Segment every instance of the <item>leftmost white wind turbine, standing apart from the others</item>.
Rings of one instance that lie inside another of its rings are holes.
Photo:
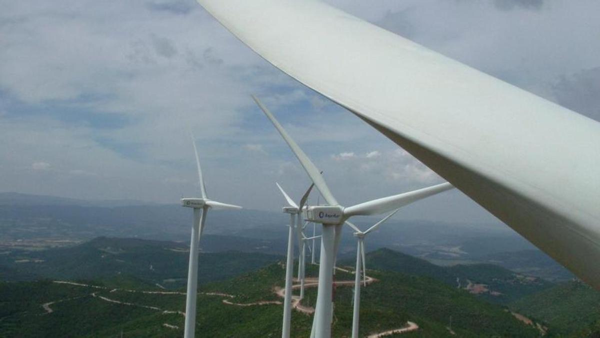
[[[209,209],[242,209],[241,206],[233,204],[220,203],[210,200],[206,195],[204,180],[202,179],[202,169],[200,168],[200,158],[196,149],[196,141],[192,137],[194,153],[196,154],[196,165],[198,168],[198,181],[202,198],[181,198],[181,206],[194,209],[194,223],[191,227],[190,239],[190,265],[188,266],[188,285],[185,295],[185,329],[184,338],[194,338],[196,331],[196,290],[198,286],[198,244],[204,230],[206,214]],[[200,215],[202,210],[202,216]]]

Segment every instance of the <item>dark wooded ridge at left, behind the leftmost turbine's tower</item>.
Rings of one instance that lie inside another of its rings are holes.
[[[212,238],[212,245],[221,246],[215,243],[218,239]],[[247,240],[238,242],[240,250],[245,245]],[[133,275],[152,284],[180,287],[187,278],[188,250],[187,244],[178,242],[101,237],[75,247],[4,254],[0,265],[6,268],[0,269],[0,280],[29,280],[32,275],[70,280]],[[279,259],[281,256],[241,251],[201,253],[199,281],[223,280]]]

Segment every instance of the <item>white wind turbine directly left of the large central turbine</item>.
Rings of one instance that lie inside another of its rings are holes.
[[[307,191],[304,193],[300,200],[300,205],[296,204],[294,200],[292,200],[289,195],[287,195],[286,191],[279,185],[279,183],[275,182],[277,188],[283,194],[283,197],[286,198],[288,206],[283,207],[283,212],[286,214],[290,214],[290,229],[287,232],[287,259],[286,259],[286,289],[283,298],[283,325],[281,329],[281,337],[289,338],[290,336],[290,326],[292,322],[292,273],[293,273],[293,265],[294,265],[294,222],[296,221],[296,230],[298,231],[298,248],[299,251],[302,247],[302,226],[301,226],[301,214],[302,207],[306,203],[308,199],[308,195],[310,195],[310,191],[313,189],[314,183],[308,187]],[[297,219],[297,220],[296,220]],[[298,259],[298,266],[301,268],[302,266],[302,255]],[[298,270],[298,278],[301,278],[301,272]],[[302,281],[301,281],[302,283]],[[302,297],[301,297],[302,298]]]

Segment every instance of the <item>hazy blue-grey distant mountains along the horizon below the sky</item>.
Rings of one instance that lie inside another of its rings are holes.
[[[144,202],[0,193],[0,256],[14,250],[71,246],[99,236],[189,241],[191,210],[175,203],[134,205],[138,203]],[[211,252],[284,254],[288,221],[279,212],[211,212],[202,245]],[[365,228],[373,219],[357,218],[355,224]],[[320,226],[316,230],[318,235]],[[352,259],[356,248],[350,229],[344,232],[340,260]],[[505,226],[390,220],[371,233],[368,245],[371,250],[394,248],[439,265],[493,263],[550,281],[571,278],[558,263]]]

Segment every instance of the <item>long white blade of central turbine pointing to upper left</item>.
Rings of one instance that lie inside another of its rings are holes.
[[[304,151],[302,151],[302,149],[298,146],[298,144],[296,144],[296,141],[294,141],[290,137],[290,135],[287,134],[286,130],[283,129],[281,124],[275,119],[275,117],[273,116],[273,114],[271,114],[269,109],[267,109],[256,96],[252,96],[252,98],[254,99],[256,104],[259,105],[260,109],[262,109],[262,111],[265,113],[266,117],[268,117],[269,120],[271,120],[271,123],[273,123],[275,128],[277,128],[277,131],[279,132],[279,134],[281,134],[281,137],[283,137],[287,145],[290,146],[290,149],[292,149],[292,152],[296,155],[296,158],[298,158],[298,161],[300,161],[300,164],[302,165],[302,167],[304,167],[304,170],[307,172],[314,185],[317,186],[317,189],[319,189],[319,192],[321,193],[321,195],[323,195],[323,198],[325,198],[327,203],[331,205],[338,205],[337,200],[335,200],[334,195],[331,194],[327,183],[325,183],[323,176],[320,174],[321,171],[317,169],[317,166],[314,165],[313,161],[311,161],[310,158],[308,158],[308,156],[304,153]]]

